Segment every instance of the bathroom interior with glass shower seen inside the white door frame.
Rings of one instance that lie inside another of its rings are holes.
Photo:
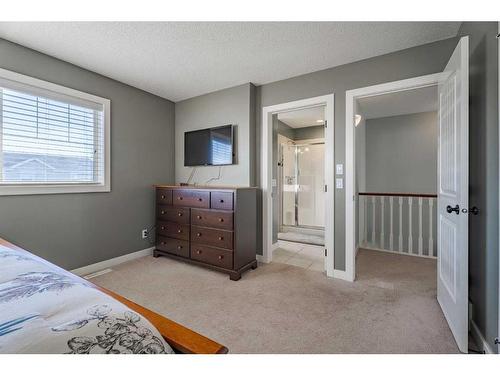
[[[276,142],[274,262],[324,271],[325,106],[273,117]]]

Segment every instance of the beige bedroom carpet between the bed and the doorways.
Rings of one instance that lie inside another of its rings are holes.
[[[145,257],[92,281],[231,353],[457,353],[436,301],[436,261],[361,250],[358,280],[263,264],[240,281]]]

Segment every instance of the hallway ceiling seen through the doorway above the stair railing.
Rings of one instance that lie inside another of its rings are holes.
[[[365,119],[437,111],[437,86],[361,98],[358,109]]]

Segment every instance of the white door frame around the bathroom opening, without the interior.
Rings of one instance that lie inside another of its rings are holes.
[[[273,160],[273,122],[272,116],[280,112],[288,112],[301,108],[325,106],[325,119],[327,127],[325,129],[325,165],[326,168],[325,183],[328,190],[325,193],[325,248],[328,249],[326,257],[326,274],[328,277],[334,277],[334,94],[317,96],[314,98],[296,100],[288,103],[281,103],[262,108],[262,156],[261,156],[261,187],[262,187],[262,261],[269,263],[272,260],[273,250],[276,245],[273,244],[273,198],[271,196],[272,187],[272,160]],[[328,142],[327,142],[328,140]],[[326,230],[328,228],[328,230]]]

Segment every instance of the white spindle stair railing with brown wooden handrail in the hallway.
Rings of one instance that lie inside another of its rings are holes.
[[[358,220],[364,224],[359,247],[436,258],[437,195],[359,193],[358,198]]]

